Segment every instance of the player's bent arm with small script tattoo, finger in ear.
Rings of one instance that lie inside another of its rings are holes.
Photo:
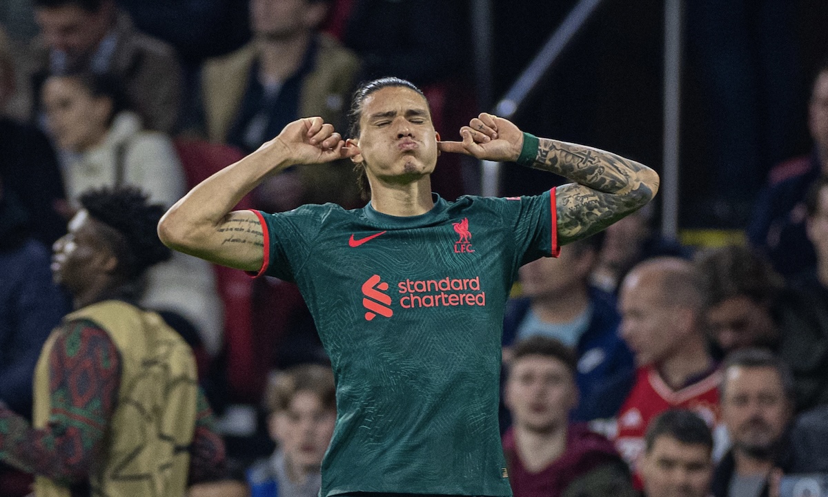
[[[258,271],[265,243],[258,218],[233,206],[267,176],[295,164],[348,157],[333,126],[302,118],[242,160],[210,176],[178,200],[158,223],[158,236],[171,249],[231,268]]]

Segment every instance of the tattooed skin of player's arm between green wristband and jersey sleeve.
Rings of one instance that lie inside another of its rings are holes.
[[[534,168],[575,181],[556,190],[561,245],[595,234],[647,204],[658,175],[647,166],[598,148],[540,140]]]

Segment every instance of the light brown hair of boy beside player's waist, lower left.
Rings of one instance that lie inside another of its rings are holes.
[[[265,392],[267,413],[286,411],[291,400],[299,392],[310,392],[319,398],[322,407],[336,408],[336,386],[330,366],[321,364],[299,364],[273,374]]]

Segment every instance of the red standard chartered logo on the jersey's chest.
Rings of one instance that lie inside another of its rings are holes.
[[[480,277],[444,277],[431,280],[411,280],[397,283],[399,306],[402,309],[421,307],[485,306],[486,292],[480,287]],[[391,317],[391,297],[388,283],[378,274],[368,278],[362,285],[363,306],[367,321],[377,315]]]

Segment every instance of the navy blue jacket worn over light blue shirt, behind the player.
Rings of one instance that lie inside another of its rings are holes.
[[[590,326],[581,335],[575,353],[578,356],[578,374],[575,381],[580,392],[580,403],[572,412],[573,421],[613,417],[627,398],[635,379],[633,353],[618,334],[621,317],[615,297],[596,288],[590,288],[593,305]],[[503,346],[512,345],[517,328],[529,311],[527,297],[511,299],[506,306],[503,321]]]

